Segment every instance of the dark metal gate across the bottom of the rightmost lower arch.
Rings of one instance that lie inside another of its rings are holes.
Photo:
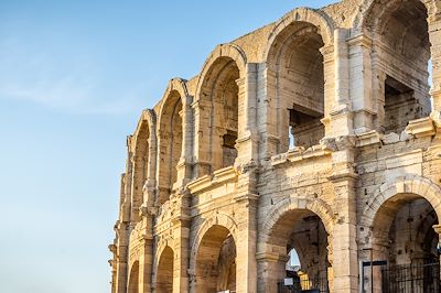
[[[441,293],[440,263],[381,269],[383,293]]]

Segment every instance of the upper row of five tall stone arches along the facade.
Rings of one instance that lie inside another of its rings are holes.
[[[431,111],[428,9],[419,0],[388,1],[386,7],[370,0],[362,6],[362,12],[346,37],[363,33],[372,40],[364,48],[369,58],[363,59],[364,53],[362,59],[347,56],[347,62],[356,65],[351,77],[354,85],[347,88],[354,96],[343,102],[352,104],[357,111],[355,129],[400,134],[408,121]],[[338,83],[334,80],[334,57],[340,54],[334,47],[334,29],[331,18],[311,9],[297,9],[275,25],[262,51],[266,85],[261,95],[268,101],[263,116],[252,112],[247,101],[257,96],[247,84],[251,79],[247,56],[235,44],[219,45],[211,54],[194,97],[186,80],[172,79],[159,111],[148,111],[149,117],[142,118],[133,135],[135,207],[142,202],[142,185],[148,177],[157,181],[154,197],[161,205],[174,184],[233,166],[238,156],[237,141],[246,135],[248,120],[255,121],[255,129],[265,126],[267,137],[276,138],[271,140],[275,145],[267,146],[266,158],[292,146],[308,149],[331,135],[330,115],[342,98],[336,97],[341,93],[334,93]],[[357,82],[366,79],[357,76],[357,68],[372,74],[367,84]],[[357,93],[364,94],[358,97]],[[157,169],[148,170],[153,161]]]

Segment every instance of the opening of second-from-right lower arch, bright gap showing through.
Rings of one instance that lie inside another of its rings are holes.
[[[308,209],[284,213],[265,246],[273,257],[259,260],[259,292],[329,292],[327,232],[316,214]]]

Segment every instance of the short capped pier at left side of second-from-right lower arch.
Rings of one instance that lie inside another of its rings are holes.
[[[278,253],[261,252],[257,254],[257,291],[258,293],[277,293],[277,283],[287,275],[286,264],[288,256]]]

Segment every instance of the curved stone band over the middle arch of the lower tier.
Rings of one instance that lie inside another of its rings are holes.
[[[237,243],[237,224],[234,218],[226,214],[216,214],[213,217],[207,218],[204,220],[204,223],[201,225],[200,229],[197,230],[197,234],[193,240],[192,243],[192,250],[190,254],[190,270],[195,269],[196,267],[196,254],[198,251],[198,247],[201,245],[201,241],[205,234],[213,227],[213,226],[220,226],[226,229],[232,234],[234,241]]]

